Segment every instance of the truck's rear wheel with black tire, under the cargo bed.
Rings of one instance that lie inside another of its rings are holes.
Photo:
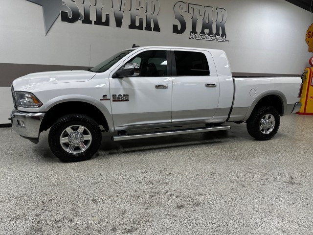
[[[267,141],[273,138],[280,125],[280,116],[273,107],[261,107],[255,109],[246,121],[246,129],[250,136]]]

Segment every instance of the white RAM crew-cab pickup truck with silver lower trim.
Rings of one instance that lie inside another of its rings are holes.
[[[300,109],[301,85],[300,77],[232,77],[222,50],[134,47],[87,71],[14,80],[11,122],[35,143],[50,128],[51,151],[66,162],[91,158],[102,131],[120,141],[227,130],[224,122],[246,122],[253,138],[269,140],[280,116]]]

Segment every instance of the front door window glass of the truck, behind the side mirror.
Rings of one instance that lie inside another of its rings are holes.
[[[157,77],[167,75],[166,50],[147,50],[141,52],[127,61],[126,64],[134,63],[139,65],[139,76]],[[120,69],[124,69],[124,66]]]

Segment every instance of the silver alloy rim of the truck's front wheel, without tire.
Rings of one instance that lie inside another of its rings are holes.
[[[67,127],[60,136],[60,144],[67,153],[78,154],[86,151],[92,141],[90,131],[81,125]]]

